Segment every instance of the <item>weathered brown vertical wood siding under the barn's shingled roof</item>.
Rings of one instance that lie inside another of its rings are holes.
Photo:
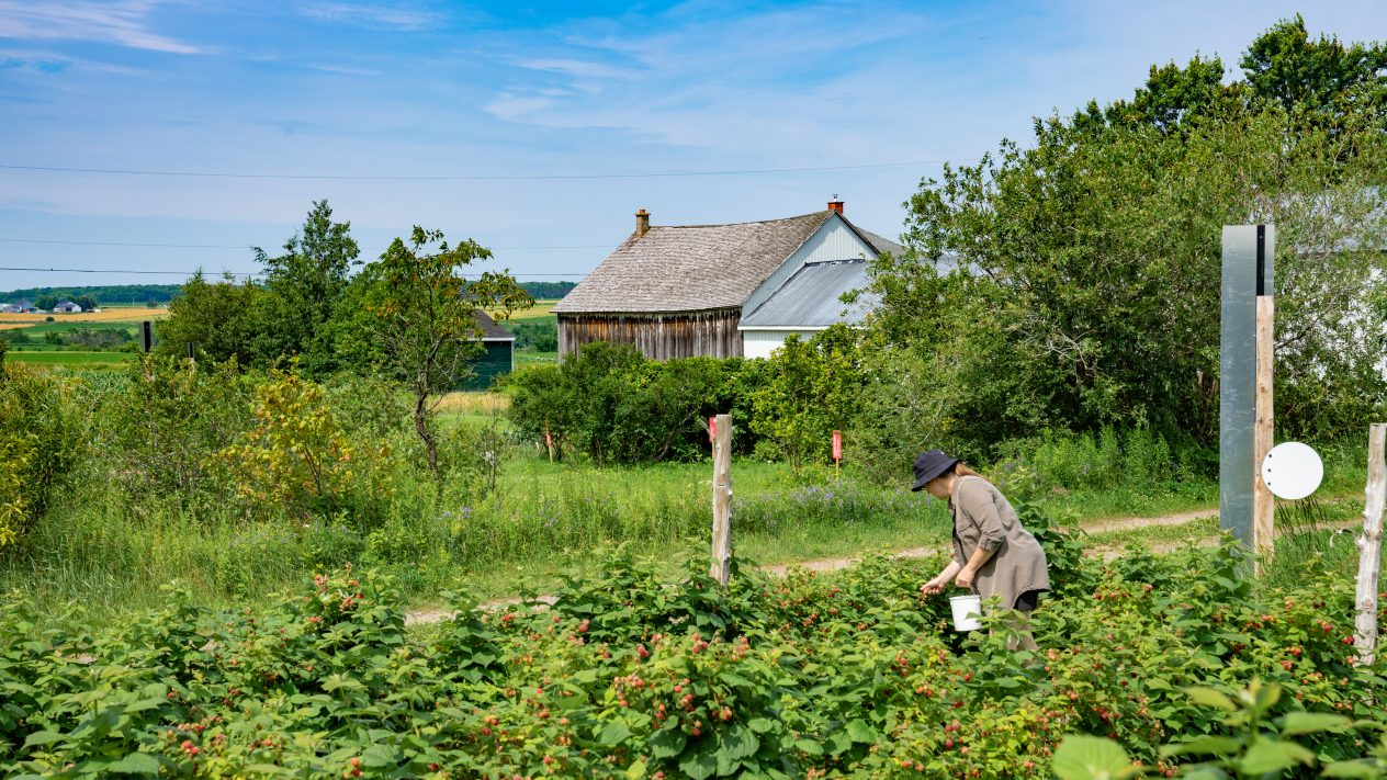
[[[648,358],[742,355],[736,325],[739,308],[677,314],[560,314],[559,355],[571,355],[589,341],[634,344]]]

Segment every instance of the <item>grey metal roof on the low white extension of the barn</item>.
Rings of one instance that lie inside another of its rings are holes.
[[[810,262],[795,272],[752,314],[742,318],[741,330],[813,329],[835,322],[859,325],[879,301],[863,294],[845,304],[843,293],[867,287],[867,261]]]

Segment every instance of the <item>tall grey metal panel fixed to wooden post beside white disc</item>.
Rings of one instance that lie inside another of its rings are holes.
[[[1259,291],[1272,293],[1275,248],[1276,228],[1272,225],[1223,228],[1219,527],[1248,547],[1252,544],[1252,486],[1257,479],[1252,462],[1252,433],[1257,423],[1257,296]]]

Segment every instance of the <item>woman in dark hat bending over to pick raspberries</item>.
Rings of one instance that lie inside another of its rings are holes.
[[[1021,527],[1007,497],[942,450],[915,458],[911,490],[928,490],[936,498],[949,500],[954,522],[953,561],[939,576],[920,586],[920,591],[933,595],[953,580],[961,588],[976,590],[983,602],[997,595],[1003,609],[1017,609],[1024,616],[1018,626],[1021,647],[1036,650],[1029,618],[1040,591],[1050,590],[1050,572],[1044,550]]]

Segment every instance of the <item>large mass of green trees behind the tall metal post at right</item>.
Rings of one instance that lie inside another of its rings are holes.
[[[1282,65],[1257,72],[1300,78]],[[1104,425],[1212,444],[1221,229],[1250,221],[1277,226],[1279,430],[1337,437],[1383,408],[1361,337],[1383,329],[1383,261],[1362,251],[1384,243],[1380,122],[1309,121],[1221,75],[1155,69],[1130,103],[1036,119],[1033,144],[921,185],[908,251],[872,266],[859,436],[874,459],[924,444],[990,459],[1007,439]]]

